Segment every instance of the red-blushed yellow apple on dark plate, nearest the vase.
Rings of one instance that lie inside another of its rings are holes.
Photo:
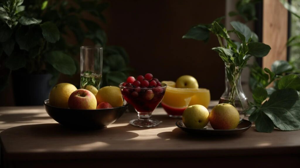
[[[213,129],[235,129],[238,126],[240,115],[234,106],[227,103],[214,106],[209,115]]]

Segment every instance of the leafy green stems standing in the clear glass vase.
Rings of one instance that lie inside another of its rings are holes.
[[[230,96],[229,103],[235,106],[236,96],[238,97],[237,81],[240,79],[241,71],[246,67],[251,56],[264,57],[270,51],[270,46],[257,42],[257,35],[241,22],[230,22],[233,30],[227,31],[222,24],[222,18],[214,20],[211,24],[199,24],[191,28],[182,38],[207,41],[210,33],[217,36],[220,47],[212,48],[225,62],[226,78],[229,81]],[[236,34],[241,42],[232,41],[229,32]],[[226,41],[223,44],[222,40]],[[240,103],[242,104],[242,103]],[[243,110],[243,106],[241,107]]]

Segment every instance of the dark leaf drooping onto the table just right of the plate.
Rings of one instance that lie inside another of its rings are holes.
[[[258,132],[272,132],[274,130],[274,123],[263,112],[257,112],[255,120],[255,128]]]

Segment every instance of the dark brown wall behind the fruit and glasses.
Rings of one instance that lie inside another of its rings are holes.
[[[107,0],[104,13],[108,45],[123,46],[135,69],[132,75],[152,73],[159,80],[176,80],[192,75],[199,87],[208,88],[211,99],[224,91],[224,65],[211,50],[218,46],[211,36],[208,43],[182,36],[193,25],[210,23],[225,15],[225,1],[210,0]],[[216,5],[217,4],[217,5]],[[59,82],[79,84],[79,74],[61,76]],[[1,106],[13,105],[12,88],[0,93]]]

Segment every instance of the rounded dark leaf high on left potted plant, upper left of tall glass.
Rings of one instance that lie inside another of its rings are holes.
[[[52,22],[45,22],[41,24],[44,38],[51,43],[55,43],[59,40],[59,30],[57,26]]]

